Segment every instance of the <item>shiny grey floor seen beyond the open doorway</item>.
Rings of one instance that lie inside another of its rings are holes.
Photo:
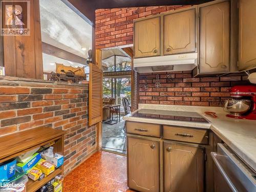
[[[115,124],[102,123],[102,149],[115,153],[126,154],[126,137],[123,131],[124,120]]]

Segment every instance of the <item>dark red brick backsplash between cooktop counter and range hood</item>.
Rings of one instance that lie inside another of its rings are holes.
[[[156,76],[161,87],[155,88]],[[146,80],[145,80],[146,77]],[[144,89],[147,81],[148,89]],[[139,103],[221,106],[232,86],[250,84],[247,76],[192,77],[191,71],[139,74]]]

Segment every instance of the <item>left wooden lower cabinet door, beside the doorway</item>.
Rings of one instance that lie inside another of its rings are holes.
[[[159,141],[127,137],[128,186],[159,191]]]

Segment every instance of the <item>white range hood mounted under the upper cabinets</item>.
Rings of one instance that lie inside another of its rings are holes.
[[[138,73],[162,71],[189,71],[197,67],[197,53],[136,58],[134,68]]]

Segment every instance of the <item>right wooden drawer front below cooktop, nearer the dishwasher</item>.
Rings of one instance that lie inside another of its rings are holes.
[[[180,126],[163,126],[163,138],[191,143],[208,144],[208,130]]]

